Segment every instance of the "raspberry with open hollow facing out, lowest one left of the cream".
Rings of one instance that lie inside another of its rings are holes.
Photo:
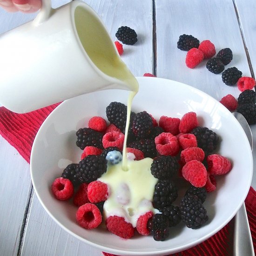
[[[78,224],[85,229],[95,229],[102,222],[101,211],[93,203],[81,205],[75,217]]]

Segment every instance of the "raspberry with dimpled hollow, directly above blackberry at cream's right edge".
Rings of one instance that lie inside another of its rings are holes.
[[[178,140],[171,133],[161,133],[160,135],[156,136],[155,147],[160,155],[175,156],[180,151]]]

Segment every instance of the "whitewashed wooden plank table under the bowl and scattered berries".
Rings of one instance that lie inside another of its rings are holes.
[[[52,0],[53,7],[69,0]],[[229,47],[243,76],[256,72],[256,0],[84,0],[102,18],[115,39],[118,27],[134,28],[138,42],[124,46],[123,61],[135,76],[153,73],[189,84],[220,100],[236,98],[237,87],[226,86],[221,74],[210,73],[204,64],[185,65],[186,52],[177,49],[181,34],[200,41],[211,40],[218,52]],[[34,19],[34,14],[7,13],[0,9],[0,34]],[[251,125],[256,141],[256,125]],[[254,142],[256,189],[256,142]],[[0,255],[100,256],[101,251],[62,230],[46,213],[31,183],[29,165],[0,137]]]

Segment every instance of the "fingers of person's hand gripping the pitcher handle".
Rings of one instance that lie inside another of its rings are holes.
[[[34,13],[41,7],[41,0],[0,0],[0,7],[7,12]]]

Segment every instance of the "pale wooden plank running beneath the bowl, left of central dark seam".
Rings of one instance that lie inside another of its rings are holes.
[[[87,0],[85,2],[100,15],[114,41],[118,27],[128,26],[135,29],[138,42],[133,46],[124,45],[124,54],[121,58],[134,75],[151,73],[152,1]],[[140,13],[139,19],[138,13]],[[34,195],[22,255],[102,256],[102,253],[68,235],[47,215]]]

